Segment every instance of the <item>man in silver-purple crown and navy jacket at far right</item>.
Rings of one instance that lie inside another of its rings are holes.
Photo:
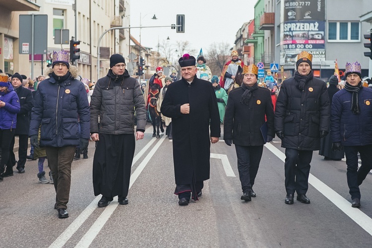
[[[332,149],[345,150],[346,178],[352,207],[361,206],[359,186],[372,169],[372,89],[363,87],[360,63],[346,63],[345,88],[333,96],[331,106]],[[362,165],[358,169],[358,152]]]

